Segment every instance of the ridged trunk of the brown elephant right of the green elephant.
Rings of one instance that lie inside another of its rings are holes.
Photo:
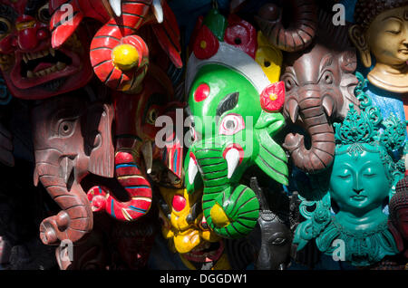
[[[311,137],[311,148],[306,149],[304,136],[288,134],[284,148],[289,151],[297,168],[307,172],[316,173],[332,163],[335,157],[335,133],[327,120],[325,110],[333,111],[332,106],[327,108],[327,103],[334,101],[330,96],[322,97],[319,91],[304,90],[299,92],[300,101],[290,100],[289,114],[292,120],[297,119],[297,111],[300,113],[306,131]]]

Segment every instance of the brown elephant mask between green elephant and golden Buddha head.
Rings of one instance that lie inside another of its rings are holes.
[[[347,28],[335,26],[329,14],[320,12],[315,42],[302,53],[290,53],[281,80],[285,82],[284,115],[310,135],[289,133],[284,147],[295,166],[307,173],[329,167],[335,155],[332,120],[345,117],[349,103],[358,101],[355,49],[348,42]]]

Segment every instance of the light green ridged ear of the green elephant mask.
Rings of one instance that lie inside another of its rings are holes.
[[[287,155],[277,142],[272,139],[278,130],[285,124],[281,113],[267,113],[262,111],[257,124],[255,124],[255,135],[259,144],[259,153],[255,163],[270,178],[277,182],[288,184]]]

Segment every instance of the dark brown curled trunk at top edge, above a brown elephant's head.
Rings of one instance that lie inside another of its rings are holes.
[[[277,5],[264,5],[256,16],[257,24],[270,43],[280,50],[296,52],[306,49],[316,35],[317,6],[314,0],[289,0],[293,19],[284,27],[282,10]]]

